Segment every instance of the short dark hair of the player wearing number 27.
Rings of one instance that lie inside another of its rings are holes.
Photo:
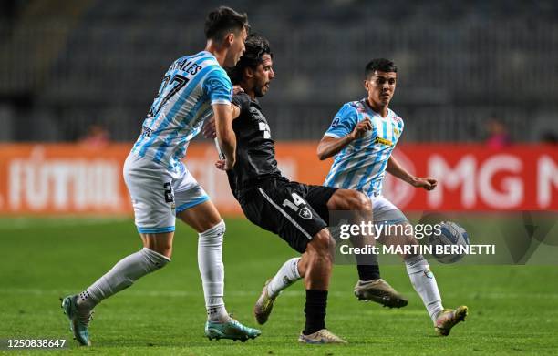
[[[205,18],[205,38],[222,41],[224,36],[231,32],[240,32],[248,25],[248,15],[240,14],[231,7],[219,6]]]

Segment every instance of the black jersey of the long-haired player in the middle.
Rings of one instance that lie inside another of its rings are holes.
[[[282,175],[275,160],[274,140],[258,101],[239,93],[233,97],[233,105],[241,112],[233,121],[236,163],[227,174],[233,194],[239,198],[255,184]]]

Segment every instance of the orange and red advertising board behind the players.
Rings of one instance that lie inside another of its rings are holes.
[[[122,165],[130,145],[0,145],[0,214],[130,214]],[[288,178],[321,184],[331,160],[319,161],[315,143],[278,143]],[[404,210],[558,210],[558,149],[523,145],[407,145],[395,157],[421,177],[439,179],[431,192],[387,176],[384,195]],[[191,144],[186,166],[223,215],[242,214],[212,144]]]

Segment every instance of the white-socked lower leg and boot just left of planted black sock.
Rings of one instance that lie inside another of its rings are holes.
[[[302,278],[298,272],[298,261],[300,261],[300,257],[287,260],[274,275],[274,278],[265,282],[262,294],[253,306],[253,316],[258,324],[263,325],[269,319],[275,300],[281,290]]]

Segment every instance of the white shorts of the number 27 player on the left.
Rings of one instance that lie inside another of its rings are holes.
[[[174,231],[177,212],[209,200],[183,164],[170,170],[135,153],[130,153],[124,162],[124,181],[140,233]]]

